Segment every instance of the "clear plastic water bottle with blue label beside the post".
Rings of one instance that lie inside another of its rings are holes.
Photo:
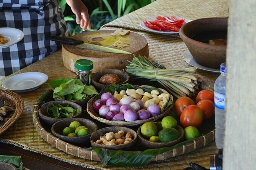
[[[226,63],[220,65],[220,76],[214,83],[215,105],[215,143],[218,149],[223,149],[225,134],[225,88],[226,88]]]

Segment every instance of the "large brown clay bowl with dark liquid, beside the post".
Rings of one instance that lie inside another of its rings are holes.
[[[219,69],[220,64],[226,62],[227,46],[200,42],[192,37],[200,34],[212,35],[214,32],[227,32],[227,27],[228,18],[196,19],[184,24],[179,30],[179,36],[198,64]]]

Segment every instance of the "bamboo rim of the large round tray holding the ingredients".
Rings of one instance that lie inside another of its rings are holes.
[[[211,89],[209,84],[202,82],[201,89]],[[40,103],[36,103],[33,109],[33,122],[38,134],[47,141],[47,143],[51,144],[55,148],[60,151],[64,151],[67,154],[88,160],[100,161],[99,157],[92,149],[89,148],[81,148],[65,141],[60,140],[59,138],[52,135],[48,132],[41,124],[38,117],[38,109],[40,107]],[[194,151],[195,149],[201,148],[206,144],[212,142],[215,139],[215,129],[209,130],[209,132],[205,135],[202,135],[199,138],[196,138],[193,141],[188,141],[187,143],[178,146],[170,151],[164,152],[163,154],[159,154],[151,161],[159,161],[169,159],[175,156],[183,155],[188,152]]]

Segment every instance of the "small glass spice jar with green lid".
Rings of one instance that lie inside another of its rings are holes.
[[[75,62],[75,74],[77,79],[82,80],[86,85],[91,84],[91,70],[93,69],[93,62],[88,59],[78,59]]]

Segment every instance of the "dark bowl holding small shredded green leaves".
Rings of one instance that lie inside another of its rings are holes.
[[[83,109],[82,107],[77,104],[77,103],[74,103],[74,102],[71,102],[71,101],[67,101],[67,100],[60,100],[60,101],[50,101],[50,102],[47,102],[47,103],[44,103],[42,104],[42,106],[40,107],[39,111],[38,111],[38,115],[39,115],[39,118],[41,120],[41,122],[44,124],[44,125],[48,125],[48,126],[52,126],[55,122],[59,121],[59,120],[64,120],[64,119],[67,119],[67,118],[61,118],[61,119],[58,119],[58,118],[53,118],[53,117],[49,117],[46,115],[46,112],[47,112],[47,107],[49,106],[53,106],[53,103],[57,103],[57,104],[68,104],[69,106],[75,108],[75,109],[79,109],[80,112],[77,114],[77,115],[74,115],[70,118],[73,118],[73,117],[80,117],[82,115],[82,112],[83,112]]]

